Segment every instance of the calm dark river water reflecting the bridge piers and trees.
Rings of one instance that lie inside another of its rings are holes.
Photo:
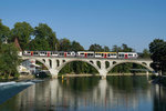
[[[46,80],[11,98],[0,111],[166,111],[166,89],[146,77]]]

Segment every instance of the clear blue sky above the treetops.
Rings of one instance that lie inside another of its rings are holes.
[[[166,40],[166,0],[0,0],[0,19],[10,29],[46,23],[58,39],[85,49],[126,43],[141,52],[154,39]]]

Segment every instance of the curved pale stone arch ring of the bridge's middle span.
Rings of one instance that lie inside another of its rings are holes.
[[[81,62],[86,62],[86,63],[89,63],[90,65],[92,65],[94,69],[96,69],[96,71],[98,72],[98,68],[97,68],[97,65],[95,65],[94,64],[94,62],[92,62],[92,60],[69,60],[69,61],[65,61],[65,62],[63,62],[59,68],[58,68],[58,71],[60,72],[61,70],[62,70],[62,68],[64,68],[68,63],[71,63],[71,62],[74,62],[74,61],[81,61]],[[59,73],[58,73],[59,74]]]

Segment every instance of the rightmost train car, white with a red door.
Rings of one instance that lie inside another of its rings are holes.
[[[120,59],[137,59],[138,54],[136,52],[118,52]]]

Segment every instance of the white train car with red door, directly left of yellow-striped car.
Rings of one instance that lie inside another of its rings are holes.
[[[95,53],[93,51],[77,51],[76,57],[79,57],[79,58],[95,58]]]

